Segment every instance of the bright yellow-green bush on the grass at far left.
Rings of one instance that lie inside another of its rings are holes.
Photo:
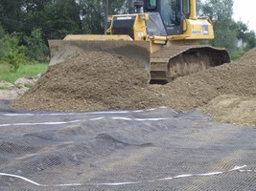
[[[5,35],[3,41],[7,47],[3,60],[10,64],[10,72],[16,73],[20,62],[24,62],[26,60],[26,48],[18,45],[19,38],[15,34]]]

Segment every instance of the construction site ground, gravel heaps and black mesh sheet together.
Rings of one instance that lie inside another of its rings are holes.
[[[0,190],[255,190],[256,50],[148,81],[141,63],[91,52],[15,100],[1,90]]]

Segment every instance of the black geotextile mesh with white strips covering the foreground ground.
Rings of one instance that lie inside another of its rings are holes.
[[[0,190],[256,188],[253,126],[171,108],[64,114],[0,105]]]

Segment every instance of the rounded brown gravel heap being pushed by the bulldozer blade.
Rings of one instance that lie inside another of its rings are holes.
[[[14,107],[89,111],[162,105],[148,90],[149,79],[144,65],[135,60],[110,53],[84,53],[50,67]]]

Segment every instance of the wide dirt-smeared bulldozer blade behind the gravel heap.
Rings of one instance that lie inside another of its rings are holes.
[[[149,41],[128,40],[49,40],[50,65],[58,64],[86,52],[106,52],[128,56],[143,62],[145,70],[151,70],[151,46]]]

